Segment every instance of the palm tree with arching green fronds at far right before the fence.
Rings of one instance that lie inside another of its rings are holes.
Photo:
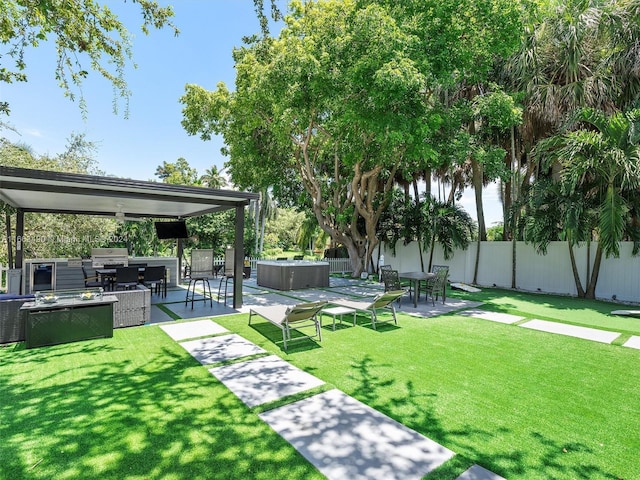
[[[582,128],[570,130],[576,126]],[[595,212],[591,224],[598,247],[584,293],[595,298],[602,255],[618,257],[619,244],[626,238],[634,242],[633,254],[640,252],[640,109],[610,116],[580,109],[563,132],[537,145],[535,155],[546,165],[559,162],[558,201],[573,207],[568,211],[579,212],[575,218],[587,221],[589,207]],[[576,198],[583,199],[581,205]],[[564,230],[575,231],[577,223],[565,218]],[[580,240],[568,238],[570,246]],[[572,267],[575,275],[573,258]],[[576,277],[576,286],[579,282]]]

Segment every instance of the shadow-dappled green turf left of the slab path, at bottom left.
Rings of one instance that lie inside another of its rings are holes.
[[[0,478],[322,478],[157,327],[0,350]]]

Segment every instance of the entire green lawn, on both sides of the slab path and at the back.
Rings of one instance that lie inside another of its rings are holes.
[[[617,308],[480,295],[487,309],[576,324],[611,321]],[[215,320],[457,453],[429,479],[474,463],[508,479],[640,478],[638,350],[400,314],[399,328],[373,331],[362,318],[285,353],[266,322]],[[264,407],[245,407],[155,326],[1,348],[0,398],[0,478],[321,478],[259,420]]]

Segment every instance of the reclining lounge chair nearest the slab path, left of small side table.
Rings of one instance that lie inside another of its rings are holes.
[[[320,331],[320,319],[318,313],[327,304],[327,302],[300,303],[294,306],[287,305],[271,305],[266,307],[251,307],[249,310],[249,325],[253,315],[259,315],[265,318],[273,325],[282,330],[282,342],[284,349],[287,349],[287,341],[301,340],[304,338],[318,337],[318,341],[322,341],[322,333]],[[291,329],[300,327],[315,327],[315,335],[304,335],[301,337],[291,338]]]

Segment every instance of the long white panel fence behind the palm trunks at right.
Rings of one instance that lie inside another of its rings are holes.
[[[620,246],[620,258],[602,258],[596,287],[597,298],[640,303],[640,256],[631,255],[632,247],[631,242],[623,242]],[[452,282],[472,283],[476,248],[477,243],[472,243],[467,250],[458,250],[452,258],[445,260],[442,248],[436,246],[433,264],[448,265],[449,279]],[[577,269],[585,289],[587,269],[593,268],[596,248],[596,242],[591,243],[590,249],[586,244],[574,248]],[[384,247],[381,253],[385,258],[384,263],[392,265],[394,270],[399,272],[422,268],[426,271],[429,266],[429,252],[423,252],[421,258],[416,243],[407,246],[397,245],[396,255]],[[566,242],[552,242],[546,255],[536,253],[532,245],[517,242],[515,264],[516,288],[519,290],[561,295],[577,294]],[[511,288],[512,268],[511,242],[481,243],[477,282],[479,286]]]

